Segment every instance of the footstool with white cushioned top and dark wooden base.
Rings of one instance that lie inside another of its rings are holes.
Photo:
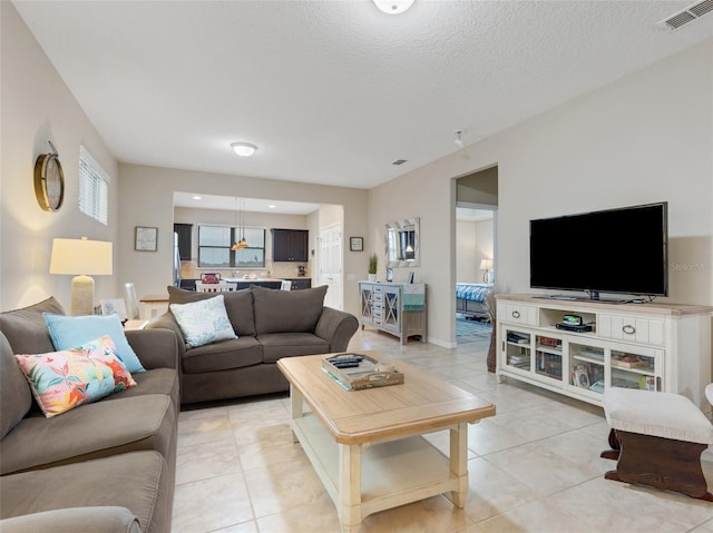
[[[654,391],[606,388],[604,412],[616,458],[607,480],[637,483],[713,502],[701,454],[713,444],[713,425],[685,396]]]

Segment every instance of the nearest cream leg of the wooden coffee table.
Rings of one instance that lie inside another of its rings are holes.
[[[339,446],[339,519],[343,533],[358,533],[361,525],[361,445]]]

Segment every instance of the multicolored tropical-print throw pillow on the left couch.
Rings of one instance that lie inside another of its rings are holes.
[[[136,385],[108,335],[71,349],[14,358],[48,418]]]

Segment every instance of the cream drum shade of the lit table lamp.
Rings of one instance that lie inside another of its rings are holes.
[[[111,243],[88,239],[53,239],[50,274],[113,274]]]

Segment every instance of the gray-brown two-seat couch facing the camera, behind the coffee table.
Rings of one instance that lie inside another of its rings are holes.
[[[345,351],[359,320],[325,307],[326,288],[289,292],[254,286],[222,293],[237,338],[205,346],[186,346],[170,310],[154,318],[148,328],[168,328],[179,339],[182,403],[284,392],[289,384],[277,369],[279,358]],[[168,287],[169,306],[215,296]]]

